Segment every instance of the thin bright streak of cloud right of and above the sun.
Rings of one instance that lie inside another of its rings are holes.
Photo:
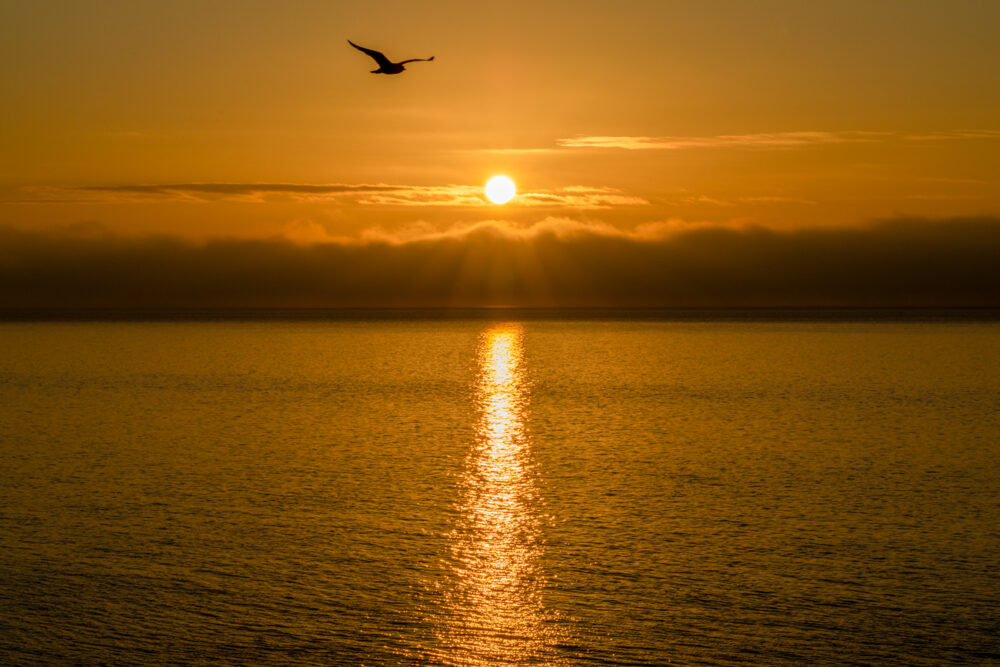
[[[1000,130],[951,130],[922,135],[851,131],[720,134],[707,137],[580,136],[571,139],[558,139],[556,143],[563,148],[620,148],[625,150],[682,150],[691,148],[782,149],[890,140],[937,141],[997,138],[1000,138]]]

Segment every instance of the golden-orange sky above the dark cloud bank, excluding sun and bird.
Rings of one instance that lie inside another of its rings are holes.
[[[0,23],[18,232],[646,238],[1000,211],[993,0],[0,0]],[[373,75],[347,39],[435,61]]]

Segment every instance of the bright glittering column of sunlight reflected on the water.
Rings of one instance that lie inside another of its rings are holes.
[[[541,599],[542,522],[526,429],[523,330],[486,330],[478,349],[476,440],[451,535],[443,643],[459,664],[551,664],[556,618]]]

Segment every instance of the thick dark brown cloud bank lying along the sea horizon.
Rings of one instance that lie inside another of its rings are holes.
[[[0,229],[0,308],[1000,307],[1000,218],[620,232],[547,221],[295,244]]]

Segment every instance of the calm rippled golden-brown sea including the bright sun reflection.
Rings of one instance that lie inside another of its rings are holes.
[[[0,324],[4,664],[1000,662],[1000,324]]]

